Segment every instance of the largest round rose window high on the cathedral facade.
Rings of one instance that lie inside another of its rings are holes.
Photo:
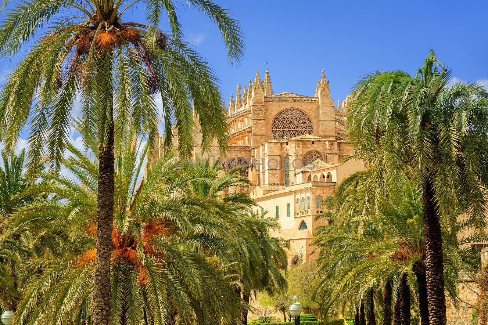
[[[297,108],[288,108],[278,113],[271,124],[274,140],[283,140],[313,133],[310,118]]]

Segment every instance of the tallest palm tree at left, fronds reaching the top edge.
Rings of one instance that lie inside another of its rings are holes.
[[[137,133],[146,136],[152,148],[158,94],[163,99],[166,148],[176,122],[180,155],[189,156],[193,111],[203,131],[203,148],[214,138],[221,149],[225,146],[225,119],[216,78],[206,62],[183,43],[175,2],[27,0],[16,2],[3,17],[1,56],[12,58],[35,41],[0,94],[0,141],[7,148],[14,147],[20,130],[30,123],[29,165],[36,170],[45,155],[59,167],[77,94],[83,102],[84,131],[96,135],[95,325],[108,325],[110,319],[114,150],[118,155],[117,140],[128,121],[135,121]],[[237,21],[211,1],[184,3],[217,24],[229,59],[238,61],[243,41]],[[135,8],[145,10],[146,23],[123,21],[126,10]],[[160,29],[164,19],[169,22],[170,34]]]

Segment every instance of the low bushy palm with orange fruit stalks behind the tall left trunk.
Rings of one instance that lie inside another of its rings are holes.
[[[232,261],[235,238],[242,236],[231,212],[246,205],[195,193],[199,183],[219,183],[218,174],[180,170],[172,154],[149,166],[138,183],[146,150],[138,155],[135,131],[124,139],[114,178],[111,324],[237,324],[247,307],[224,261]],[[33,240],[49,232],[62,248],[30,261],[39,272],[22,294],[16,324],[81,325],[93,312],[97,147],[88,156],[67,147],[72,156],[63,165],[76,180],[43,173],[45,182],[25,190],[40,199],[19,208],[5,227],[5,235],[28,231]]]

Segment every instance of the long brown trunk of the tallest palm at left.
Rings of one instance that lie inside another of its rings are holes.
[[[109,325],[111,316],[110,257],[114,215],[114,122],[106,147],[98,150],[97,266],[93,288],[93,325]]]

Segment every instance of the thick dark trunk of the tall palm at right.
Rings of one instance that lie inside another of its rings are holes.
[[[426,283],[429,325],[446,325],[444,294],[444,259],[441,225],[436,213],[432,184],[424,188],[424,229],[426,237]]]

